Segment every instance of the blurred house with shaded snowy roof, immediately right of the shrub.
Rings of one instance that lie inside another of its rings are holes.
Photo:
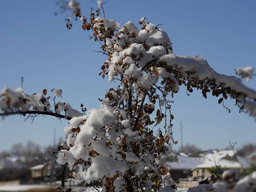
[[[177,156],[163,156],[164,166],[171,173],[173,180],[188,179],[192,175],[192,169],[195,166],[202,164],[201,161],[192,157],[186,156],[186,154],[180,154]]]

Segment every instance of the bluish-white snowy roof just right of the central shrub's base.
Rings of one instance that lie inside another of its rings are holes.
[[[177,161],[165,161],[164,164],[172,170],[191,170],[198,164],[202,164],[192,157],[177,155]]]

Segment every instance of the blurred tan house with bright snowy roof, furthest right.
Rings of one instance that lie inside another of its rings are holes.
[[[243,170],[245,168],[250,168],[251,166],[251,164],[243,157],[234,156],[232,150],[214,150],[202,154],[197,153],[197,157],[195,154],[193,154],[193,157],[204,162],[192,169],[193,177],[198,179],[204,179],[205,177],[211,176],[211,170],[216,169],[216,165],[222,170],[229,170],[231,168]]]

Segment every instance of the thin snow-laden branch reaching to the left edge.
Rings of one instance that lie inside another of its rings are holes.
[[[0,109],[3,111],[0,116],[33,114],[56,116],[70,120],[74,116],[82,115],[79,111],[72,109],[68,102],[58,101],[56,103],[56,97],[61,97],[62,90],[52,89],[51,92],[54,97],[47,97],[47,90],[45,89],[42,93],[28,95],[24,93],[22,88],[11,90],[5,87],[0,95]]]

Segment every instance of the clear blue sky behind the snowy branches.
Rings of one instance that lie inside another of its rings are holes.
[[[82,12],[89,15],[93,1],[82,1]],[[214,70],[235,75],[237,67],[256,67],[256,1],[117,1],[104,4],[106,17],[124,24],[135,24],[141,17],[161,26],[173,42],[173,52],[186,56],[203,56]],[[58,6],[54,1],[1,1],[0,6],[0,88],[20,86],[26,93],[40,93],[44,88],[61,88],[63,101],[79,109],[99,108],[98,98],[115,87],[98,76],[106,58],[99,44],[88,40],[90,33],[81,29],[81,22],[65,28],[67,13],[54,16]],[[139,25],[138,25],[139,26]],[[246,83],[256,89],[256,80]],[[180,90],[174,97],[172,111],[175,140],[180,140],[180,120],[184,144],[193,143],[202,149],[224,148],[237,141],[237,148],[256,143],[255,119],[238,113],[234,101],[227,101],[229,114],[209,95],[200,92],[189,97]],[[35,141],[41,145],[64,137],[65,120],[38,116],[33,124],[20,116],[8,116],[0,121],[0,151],[13,143]],[[179,148],[180,143],[175,146]]]

